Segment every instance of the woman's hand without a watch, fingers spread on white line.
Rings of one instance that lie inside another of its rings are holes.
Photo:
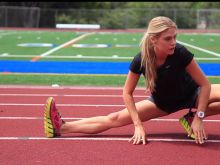
[[[142,124],[135,126],[134,136],[129,140],[129,142],[133,141],[133,144],[146,144],[145,139],[146,133]]]

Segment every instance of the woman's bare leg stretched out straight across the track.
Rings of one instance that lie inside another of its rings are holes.
[[[167,115],[149,100],[143,100],[136,103],[137,111],[142,121]],[[97,116],[86,118],[78,121],[65,122],[61,126],[61,134],[65,133],[86,133],[95,134],[106,131],[110,128],[122,127],[132,124],[128,110],[125,108],[121,111],[110,113],[107,116]]]

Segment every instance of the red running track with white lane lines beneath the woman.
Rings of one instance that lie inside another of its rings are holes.
[[[107,115],[124,108],[122,88],[0,86],[2,165],[217,165],[220,162],[220,116],[205,119],[209,139],[203,145],[188,139],[179,125],[178,118],[187,110],[145,122],[146,145],[128,142],[133,125],[94,135],[45,138],[43,109],[49,96],[55,98],[66,121]],[[135,90],[135,101],[146,97],[143,88]]]

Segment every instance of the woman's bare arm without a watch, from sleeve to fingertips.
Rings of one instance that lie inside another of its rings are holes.
[[[123,89],[124,103],[135,126],[134,136],[130,140],[133,141],[133,144],[139,144],[141,141],[143,141],[143,144],[145,144],[145,131],[142,122],[140,120],[140,117],[138,115],[135,106],[135,101],[133,98],[133,92],[137,86],[139,78],[140,78],[139,74],[135,74],[129,71]]]

